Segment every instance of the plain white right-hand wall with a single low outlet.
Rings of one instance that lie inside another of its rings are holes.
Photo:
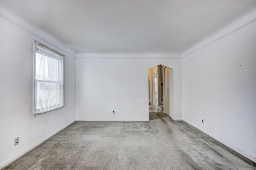
[[[255,30],[254,19],[182,61],[184,121],[254,162]]]

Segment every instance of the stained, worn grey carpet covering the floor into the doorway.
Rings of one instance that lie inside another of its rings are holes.
[[[76,121],[4,170],[256,170],[256,163],[150,107],[150,121]]]

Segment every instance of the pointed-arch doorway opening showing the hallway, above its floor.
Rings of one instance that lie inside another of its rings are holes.
[[[162,64],[148,69],[148,104],[174,115],[173,69]]]

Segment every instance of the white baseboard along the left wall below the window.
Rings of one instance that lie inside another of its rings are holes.
[[[69,125],[71,125],[72,123],[74,123],[76,121],[76,119],[72,120],[71,122],[67,123],[66,125],[62,126],[60,129],[54,131],[53,133],[51,133],[50,135],[48,135],[47,137],[45,137],[44,139],[42,139],[42,141],[36,143],[35,145],[33,145],[32,147],[24,150],[23,152],[16,154],[14,157],[12,157],[10,160],[8,160],[7,162],[4,162],[3,164],[1,164],[0,169],[4,168],[5,166],[7,166],[8,164],[12,163],[14,160],[20,158],[20,156],[23,156],[24,154],[26,154],[27,152],[29,152],[30,150],[34,149],[35,147],[37,147],[38,145],[40,145],[41,143],[43,143],[44,141],[46,141],[47,139],[49,139],[50,137],[52,137],[53,135],[55,135],[56,133],[58,133],[59,131],[61,131],[62,129],[68,127]]]

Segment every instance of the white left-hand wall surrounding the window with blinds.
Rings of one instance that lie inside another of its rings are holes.
[[[39,37],[66,49],[40,29],[25,30],[28,24],[0,8],[0,168],[75,121],[76,59],[66,55],[64,63],[65,106],[36,117],[32,114],[33,39],[52,47]],[[2,15],[4,14],[4,15]],[[10,18],[12,17],[12,22]],[[17,19],[17,23],[14,22]],[[23,25],[20,25],[23,24]],[[17,24],[17,25],[16,25]],[[29,32],[30,31],[30,32]],[[38,36],[36,36],[38,32]],[[40,36],[39,36],[40,35]],[[52,47],[56,49],[55,47]],[[59,51],[59,49],[56,49]],[[20,137],[14,147],[14,139]]]

